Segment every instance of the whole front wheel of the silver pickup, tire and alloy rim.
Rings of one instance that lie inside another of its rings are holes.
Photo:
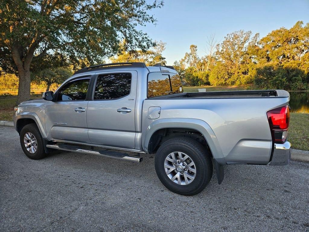
[[[20,145],[30,159],[39,160],[46,156],[43,139],[35,123],[24,126],[20,131]]]

